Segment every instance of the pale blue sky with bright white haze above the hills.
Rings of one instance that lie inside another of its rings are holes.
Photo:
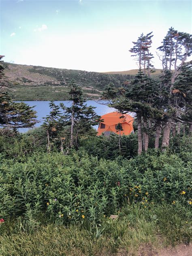
[[[138,68],[129,49],[143,32],[156,48],[191,33],[189,0],[0,0],[0,55],[15,64],[96,72]]]

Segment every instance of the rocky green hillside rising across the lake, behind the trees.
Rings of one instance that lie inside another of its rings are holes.
[[[28,66],[4,62],[5,76],[14,100],[67,100],[72,78],[82,86],[89,99],[99,98],[109,82],[115,86],[132,79],[132,75],[104,74],[82,70]]]

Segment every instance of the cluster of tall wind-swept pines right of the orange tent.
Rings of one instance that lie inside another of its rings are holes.
[[[181,130],[192,132],[192,62],[187,62],[192,52],[191,35],[169,29],[158,47],[162,61],[162,74],[158,80],[151,78],[152,36],[152,32],[141,34],[137,42],[133,42],[130,52],[137,59],[139,73],[129,86],[117,89],[109,83],[103,94],[111,107],[122,115],[129,111],[136,113],[138,154],[147,152],[151,136],[155,136],[155,149],[160,147],[162,136],[164,151],[169,147],[170,136],[175,137]]]

